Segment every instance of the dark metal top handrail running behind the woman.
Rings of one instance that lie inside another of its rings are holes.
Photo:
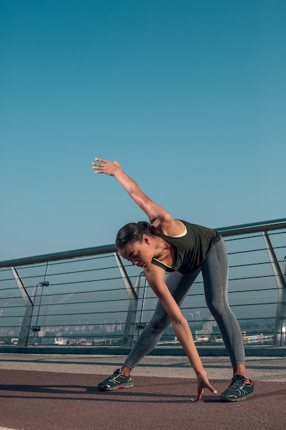
[[[222,236],[236,236],[239,234],[254,233],[257,231],[270,231],[286,228],[286,218],[276,220],[262,221],[260,223],[250,223],[233,225],[231,227],[219,227],[215,229]],[[41,256],[32,256],[26,258],[16,258],[15,260],[6,260],[0,262],[0,268],[24,266],[28,264],[36,264],[40,262],[56,261],[56,260],[69,260],[71,258],[79,258],[86,256],[94,256],[102,253],[112,253],[117,251],[115,244],[103,245],[100,247],[91,247],[83,249],[74,249],[72,251],[62,251],[56,253],[44,254]]]

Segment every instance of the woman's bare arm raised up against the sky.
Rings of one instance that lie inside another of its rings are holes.
[[[170,231],[170,227],[172,228],[172,224],[174,223],[175,229],[176,226],[175,221],[169,213],[163,209],[163,207],[160,207],[156,203],[154,203],[139,187],[138,183],[136,183],[132,178],[126,174],[121,169],[120,163],[118,161],[108,161],[101,158],[95,158],[95,163],[93,164],[93,169],[95,170],[95,173],[105,173],[110,176],[114,176],[117,181],[119,181],[120,185],[128,192],[130,197],[134,200],[134,202],[141,207],[143,212],[147,215],[147,217],[150,220],[150,224],[152,224],[154,227],[158,228],[159,226],[161,228],[167,229],[167,232],[169,234],[172,234],[173,232]],[[174,232],[174,235],[177,234],[176,231]]]

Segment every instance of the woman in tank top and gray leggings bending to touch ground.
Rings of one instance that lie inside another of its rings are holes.
[[[114,176],[149,218],[150,223],[130,223],[122,227],[116,246],[123,258],[143,268],[147,282],[159,298],[150,323],[141,332],[124,365],[99,383],[98,388],[110,391],[132,387],[132,369],[155,348],[171,321],[197,376],[198,395],[193,400],[202,398],[204,388],[217,394],[208,381],[189,324],[179,307],[198,273],[202,272],[206,303],[222,332],[233,364],[233,380],[221,398],[224,401],[245,400],[253,392],[253,381],[246,374],[241,330],[228,306],[228,259],[224,240],[213,229],[172,218],[142,192],[117,161],[99,158],[95,161],[95,173]]]

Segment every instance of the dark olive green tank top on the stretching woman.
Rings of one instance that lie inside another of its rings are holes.
[[[176,262],[170,267],[156,258],[153,258],[152,263],[156,266],[162,267],[167,272],[180,271],[182,273],[189,273],[197,270],[208,255],[208,251],[213,244],[218,242],[221,238],[219,233],[213,229],[202,227],[183,221],[185,231],[179,236],[166,236],[165,234],[152,231],[154,236],[158,236],[171,243],[176,247]]]

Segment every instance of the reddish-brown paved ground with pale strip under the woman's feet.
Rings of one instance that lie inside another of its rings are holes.
[[[198,403],[195,378],[184,357],[146,357],[134,387],[99,392],[97,383],[120,357],[0,354],[0,427],[18,430],[284,430],[286,358],[248,357],[255,394],[222,403],[206,392]],[[231,378],[227,357],[202,357],[218,392]]]

